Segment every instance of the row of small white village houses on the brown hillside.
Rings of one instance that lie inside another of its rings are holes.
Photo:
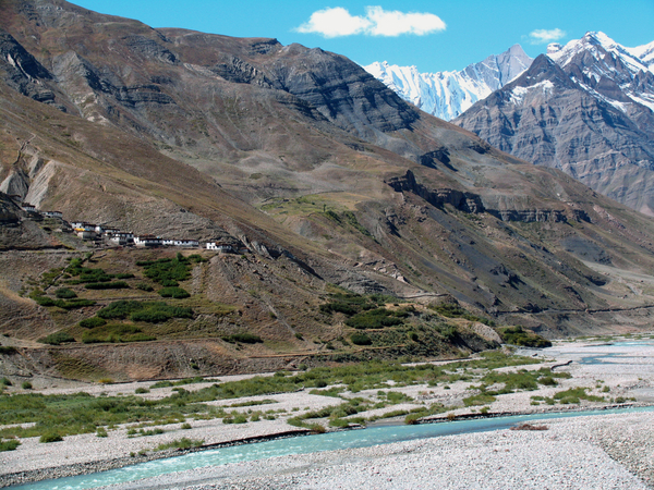
[[[15,199],[16,196],[10,196]],[[201,245],[197,240],[190,238],[164,238],[152,234],[135,235],[132,232],[125,232],[117,228],[106,226],[104,224],[89,223],[87,221],[71,221],[63,219],[63,213],[60,211],[44,211],[36,208],[29,203],[21,203],[21,208],[34,217],[58,218],[64,223],[68,223],[72,231],[83,240],[102,240],[107,243],[121,246],[135,247],[181,247],[181,248],[206,248],[207,250],[216,250],[221,253],[244,253],[247,249],[243,246],[234,246],[222,241],[205,242]]]

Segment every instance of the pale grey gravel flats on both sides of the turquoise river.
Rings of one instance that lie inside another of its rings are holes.
[[[518,391],[498,395],[487,403],[493,413],[537,413],[580,407],[608,406],[635,399],[637,404],[654,402],[654,344],[601,342],[560,342],[541,351],[520,351],[522,355],[542,358],[542,364],[499,368],[497,371],[540,369],[562,364],[553,372],[566,371],[572,377],[559,379],[555,387],[538,387],[537,391]],[[594,357],[593,359],[590,359]],[[223,382],[228,377],[220,378]],[[215,380],[211,380],[211,383]],[[134,393],[152,383],[84,387],[83,390],[107,394]],[[210,383],[209,383],[210,384]],[[462,400],[475,393],[477,382],[456,381],[438,384],[397,387],[408,401],[386,408],[356,414],[366,418],[382,412],[410,411],[425,404],[443,403],[461,406]],[[190,384],[199,389],[205,384]],[[606,387],[606,388],[605,388]],[[581,400],[579,404],[550,405],[557,392],[586,388],[586,393],[604,401]],[[71,393],[77,385],[51,388],[44,393]],[[152,389],[142,396],[162,397],[171,388]],[[374,397],[377,390],[344,397]],[[98,393],[95,393],[98,394]],[[337,405],[331,396],[308,391],[262,395],[249,399],[220,400],[215,404],[231,405],[266,400],[265,408],[275,409],[275,420],[226,425],[220,419],[189,420],[191,428],[180,424],[161,426],[164,433],[149,437],[128,437],[128,427],[108,431],[107,438],[95,433],[71,436],[61,442],[39,443],[38,438],[22,440],[15,451],[0,453],[0,483],[88,473],[124,466],[143,458],[156,458],[171,453],[148,453],[160,443],[182,437],[202,439],[204,444],[269,437],[304,429],[289,426],[287,419],[307,411]],[[633,403],[630,401],[629,403]],[[247,406],[234,408],[246,413]],[[481,406],[452,408],[439,418],[480,415]],[[484,409],[485,412],[485,409]],[[326,422],[326,420],[318,420]],[[401,420],[398,420],[401,422]],[[536,425],[537,422],[533,422]],[[654,481],[654,421],[652,413],[630,413],[547,420],[547,430],[499,430],[424,439],[373,448],[330,451],[300,456],[230,464],[156,477],[117,488],[651,488]],[[324,424],[326,425],[326,424]],[[134,456],[130,456],[132,453]],[[16,474],[23,473],[22,476]],[[652,480],[650,480],[652,479]]]

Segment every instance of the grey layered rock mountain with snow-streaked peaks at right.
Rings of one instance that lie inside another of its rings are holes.
[[[654,215],[652,45],[628,49],[602,33],[553,45],[519,78],[453,122]]]

